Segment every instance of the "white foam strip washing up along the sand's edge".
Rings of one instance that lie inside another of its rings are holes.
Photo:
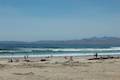
[[[120,53],[97,53],[98,56],[120,56]],[[23,58],[24,56],[28,56],[31,58],[40,58],[40,57],[65,57],[65,56],[73,56],[73,57],[92,57],[94,56],[95,53],[93,54],[81,54],[81,53],[66,53],[66,54],[44,54],[44,55],[0,55],[0,58]]]

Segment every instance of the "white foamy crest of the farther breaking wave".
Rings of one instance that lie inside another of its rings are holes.
[[[111,48],[21,48],[25,51],[109,51],[109,50],[120,50],[120,47]]]

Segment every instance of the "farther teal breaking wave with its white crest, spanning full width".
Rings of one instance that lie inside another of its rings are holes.
[[[16,50],[0,50],[0,53],[57,53],[57,52],[79,52],[79,53],[95,53],[95,52],[120,52],[120,47],[111,47],[111,48],[19,48]]]

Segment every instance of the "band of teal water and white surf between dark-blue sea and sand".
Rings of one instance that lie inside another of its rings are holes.
[[[0,57],[48,57],[120,55],[120,47],[109,48],[7,48],[0,49]]]

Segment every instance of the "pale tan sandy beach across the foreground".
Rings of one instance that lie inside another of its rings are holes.
[[[0,59],[0,80],[120,80],[120,59],[88,60],[49,58],[41,62],[8,62]]]

